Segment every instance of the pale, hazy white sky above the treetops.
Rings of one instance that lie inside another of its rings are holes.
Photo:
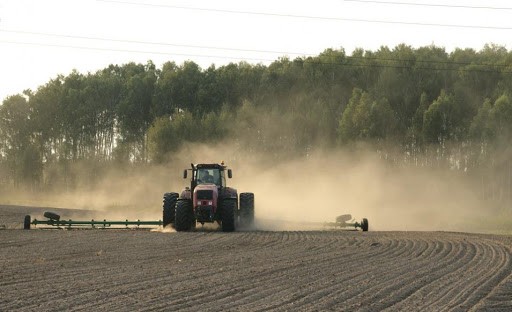
[[[510,51],[511,38],[505,0],[0,0],[0,101],[109,64],[268,65],[401,43]]]

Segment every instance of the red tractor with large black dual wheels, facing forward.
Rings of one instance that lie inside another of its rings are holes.
[[[174,225],[176,231],[190,231],[201,224],[217,222],[224,232],[238,225],[251,227],[254,223],[254,194],[240,193],[226,185],[231,169],[221,164],[191,164],[185,169],[186,179],[191,171],[190,187],[178,193],[165,193],[163,225]]]

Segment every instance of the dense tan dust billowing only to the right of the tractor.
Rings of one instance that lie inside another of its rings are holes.
[[[356,221],[368,218],[370,230],[475,231],[492,215],[463,176],[390,167],[364,151],[240,165],[234,180],[239,191],[255,193],[260,222],[282,221],[270,222],[273,229],[302,229],[351,214]]]

